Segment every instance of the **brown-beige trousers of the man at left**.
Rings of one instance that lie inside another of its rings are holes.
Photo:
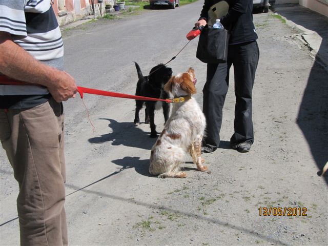
[[[0,140],[19,184],[21,245],[67,245],[63,105],[0,109]]]

